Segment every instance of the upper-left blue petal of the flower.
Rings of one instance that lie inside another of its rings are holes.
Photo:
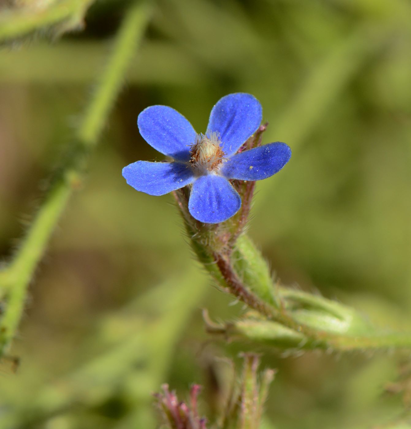
[[[137,118],[143,139],[154,149],[175,160],[188,161],[196,132],[190,122],[168,106],[150,106]]]

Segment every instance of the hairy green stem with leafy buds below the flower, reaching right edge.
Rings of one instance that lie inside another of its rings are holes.
[[[208,323],[210,332],[237,334],[280,348],[411,348],[411,335],[375,329],[354,308],[322,296],[274,287],[266,261],[245,235],[237,240],[232,260],[215,260],[230,293],[260,316],[249,315],[226,326]]]

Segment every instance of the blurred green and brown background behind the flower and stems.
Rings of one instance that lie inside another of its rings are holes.
[[[97,1],[84,30],[0,51],[4,262],[70,145],[129,3]],[[154,428],[151,393],[163,382],[181,398],[202,384],[201,410],[212,417],[230,373],[220,358],[242,350],[278,369],[266,429],[383,427],[401,414],[401,395],[384,392],[395,355],[284,354],[210,338],[201,308],[227,320],[242,305],[195,262],[172,197],[136,192],[121,169],[161,159],[138,133],[145,107],[172,106],[202,132],[220,97],[254,94],[269,122],[263,141],[287,142],[293,156],[257,184],[250,236],[284,284],[411,329],[410,17],[407,0],[154,4],[30,286],[12,347],[21,365],[14,373],[3,360],[1,428]]]

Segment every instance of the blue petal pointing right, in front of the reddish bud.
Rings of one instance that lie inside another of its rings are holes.
[[[220,173],[228,179],[261,180],[279,172],[291,157],[291,149],[281,142],[269,143],[233,155]]]

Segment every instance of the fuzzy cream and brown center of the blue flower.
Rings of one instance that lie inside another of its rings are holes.
[[[191,146],[190,163],[202,173],[218,170],[225,152],[221,149],[220,135],[216,132],[198,134]]]

